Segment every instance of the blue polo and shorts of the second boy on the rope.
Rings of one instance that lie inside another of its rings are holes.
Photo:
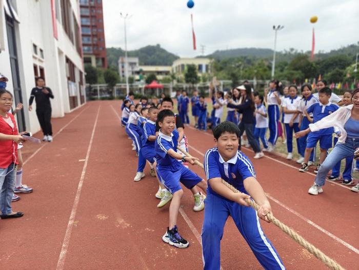
[[[171,136],[163,134],[160,130],[154,144],[157,176],[159,181],[161,181],[172,194],[182,189],[180,182],[188,189],[191,189],[202,181],[202,178],[167,154],[169,149],[175,152],[177,151],[178,138],[179,134],[177,130],[173,130]]]

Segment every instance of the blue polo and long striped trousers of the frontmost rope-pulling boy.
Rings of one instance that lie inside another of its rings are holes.
[[[248,177],[255,177],[252,163],[241,151],[225,162],[217,147],[211,148],[206,152],[204,166],[207,180],[222,178],[244,193],[247,191],[243,181]],[[255,257],[265,269],[285,269],[280,256],[263,233],[256,211],[252,207],[242,206],[218,195],[208,183],[202,228],[205,270],[220,269],[220,243],[228,216],[232,217]]]

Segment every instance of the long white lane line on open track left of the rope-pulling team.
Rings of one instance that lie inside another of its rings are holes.
[[[83,186],[84,179],[85,179],[86,168],[87,168],[87,164],[88,164],[89,157],[90,157],[90,151],[91,151],[91,147],[92,147],[93,136],[95,134],[95,129],[96,129],[96,125],[97,125],[98,114],[99,114],[99,109],[100,108],[101,108],[101,105],[98,107],[98,110],[97,110],[95,123],[93,125],[93,129],[92,129],[92,133],[91,133],[91,139],[90,139],[90,142],[89,142],[89,146],[87,148],[85,163],[84,163],[84,166],[83,166],[83,169],[82,169],[81,178],[80,178],[80,180],[78,182],[76,196],[75,196],[75,200],[73,202],[69,222],[67,224],[66,233],[65,233],[65,237],[64,237],[64,242],[63,242],[63,245],[62,245],[62,248],[61,248],[61,253],[60,253],[59,257],[58,257],[56,270],[64,269],[66,254],[67,254],[67,250],[69,248],[71,232],[72,232],[72,228],[73,228],[73,222],[75,220],[77,206],[78,206],[78,202],[80,200],[81,190],[82,190],[82,186]]]

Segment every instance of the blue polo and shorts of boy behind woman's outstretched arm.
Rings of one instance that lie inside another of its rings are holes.
[[[308,113],[313,113],[313,123],[322,120],[332,112],[339,109],[339,106],[333,103],[323,105],[322,103],[314,103],[308,109]],[[307,138],[307,148],[315,147],[319,141],[319,145],[322,149],[329,149],[332,145],[332,134],[334,130],[332,127],[323,128],[319,131],[310,132]]]

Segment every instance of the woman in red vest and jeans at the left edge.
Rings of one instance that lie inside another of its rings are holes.
[[[0,218],[21,218],[22,212],[14,212],[11,200],[14,194],[18,164],[17,145],[25,140],[18,133],[14,115],[9,113],[13,102],[12,94],[0,89]]]

